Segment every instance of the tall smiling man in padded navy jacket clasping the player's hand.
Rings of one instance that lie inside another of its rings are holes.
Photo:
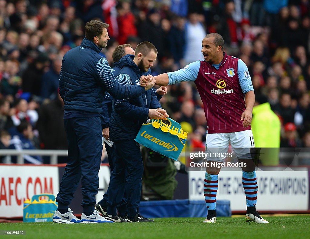
[[[108,61],[99,55],[107,46],[108,24],[91,20],[85,25],[81,46],[68,51],[63,58],[59,79],[60,96],[64,100],[64,126],[68,139],[68,164],[56,197],[58,209],[53,222],[111,222],[95,211],[98,193],[102,128],[100,112],[104,92],[113,97],[135,97],[148,88],[121,86],[111,73]],[[152,83],[154,80],[152,78]],[[152,87],[152,86],[151,86]],[[77,219],[69,204],[82,176],[83,214]]]

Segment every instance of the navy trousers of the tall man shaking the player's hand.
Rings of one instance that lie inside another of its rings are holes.
[[[102,154],[100,117],[64,119],[64,127],[68,139],[68,164],[56,197],[58,208],[69,207],[82,176],[81,206],[84,212],[93,212],[99,188],[98,172]]]

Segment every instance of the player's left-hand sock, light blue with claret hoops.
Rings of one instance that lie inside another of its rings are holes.
[[[206,207],[208,210],[215,210],[216,193],[218,189],[218,176],[206,172],[204,183],[204,196],[206,200]]]

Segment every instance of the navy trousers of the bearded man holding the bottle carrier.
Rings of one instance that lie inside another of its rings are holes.
[[[116,157],[108,193],[108,215],[116,215],[126,191],[128,216],[134,217],[140,204],[143,162],[139,144],[134,139],[114,142]],[[127,171],[127,174],[126,174]]]

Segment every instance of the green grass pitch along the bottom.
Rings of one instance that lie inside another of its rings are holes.
[[[310,216],[268,217],[269,224],[246,223],[243,217],[218,217],[216,224],[204,218],[157,218],[155,223],[2,223],[0,231],[24,231],[24,235],[0,238],[308,238]]]

